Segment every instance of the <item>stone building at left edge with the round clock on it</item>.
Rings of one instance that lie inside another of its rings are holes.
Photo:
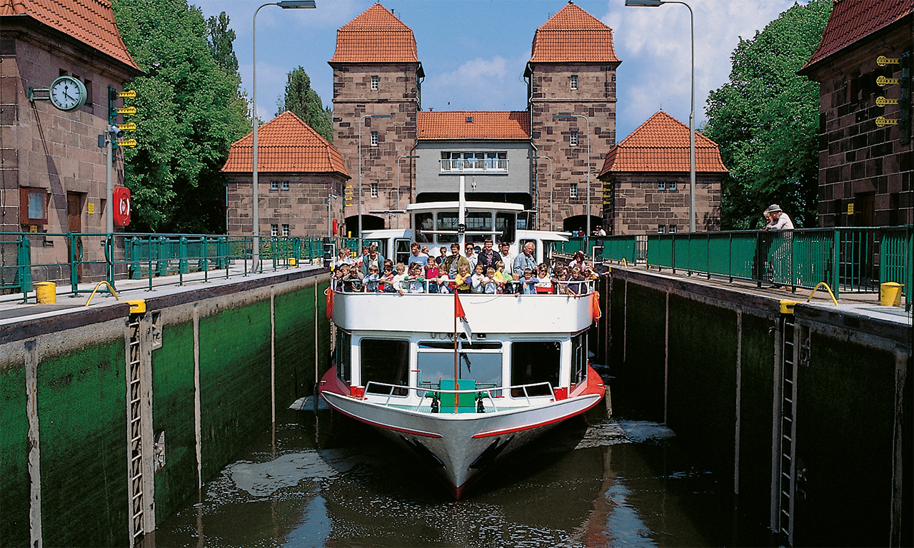
[[[98,136],[108,125],[109,87],[122,90],[139,74],[110,3],[0,0],[0,232],[105,232],[106,162]],[[60,76],[82,82],[85,104],[62,111],[49,100],[31,100],[47,98],[39,90]],[[122,184],[117,152],[113,179]],[[33,264],[69,261],[65,238],[30,240]],[[101,245],[87,243],[82,253],[86,261],[99,261],[101,272],[80,274],[103,274]],[[69,269],[36,269],[33,275],[69,279]]]

